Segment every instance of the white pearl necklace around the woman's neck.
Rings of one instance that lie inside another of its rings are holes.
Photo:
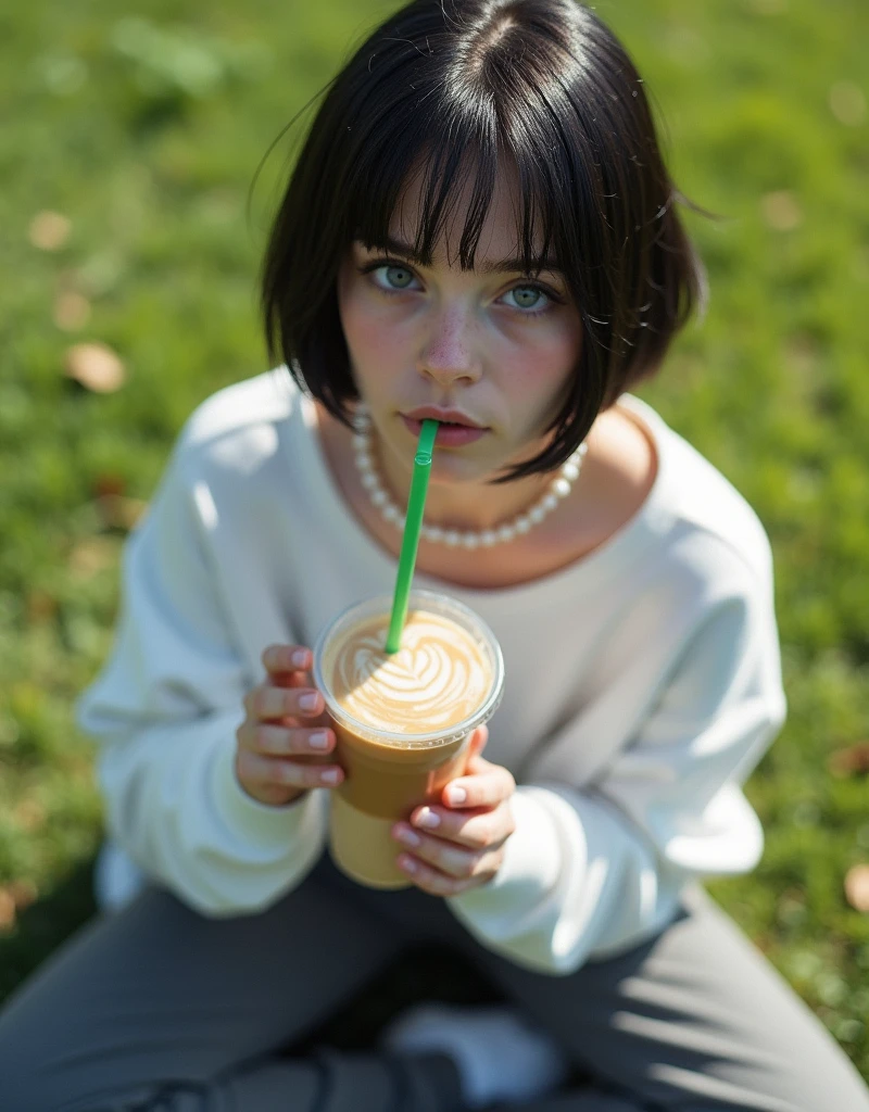
[[[362,477],[362,485],[368,492],[372,503],[379,509],[383,517],[402,532],[404,530],[406,515],[398,509],[383,488],[379,476],[374,469],[371,450],[372,419],[366,406],[357,406],[353,424],[356,429],[356,434],[353,437],[353,446],[356,449],[356,467]],[[483,529],[480,533],[472,533],[468,530],[444,529],[436,525],[425,525],[423,523],[423,537],[426,540],[445,544],[450,548],[478,548],[481,546],[488,548],[492,545],[515,539],[520,534],[527,533],[534,525],[539,525],[546,514],[551,513],[557,506],[562,498],[567,497],[573,484],[580,476],[582,458],[587,450],[589,446],[583,440],[566,463],[562,464],[559,475],[550,483],[546,494],[531,509],[524,514],[520,514],[508,525],[502,525],[496,529]]]

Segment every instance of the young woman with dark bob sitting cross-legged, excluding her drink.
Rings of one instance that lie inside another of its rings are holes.
[[[283,366],[185,428],[80,708],[141,891],[9,1003],[0,1106],[867,1112],[698,883],[760,856],[784,697],[760,522],[631,393],[704,299],[681,200],[569,0],[415,0],[329,85],[264,267]],[[394,585],[426,407],[482,434],[436,447],[416,584],[490,624],[506,689],[378,892],[324,853],[309,647]],[[425,939],[512,1007],[294,1051]]]

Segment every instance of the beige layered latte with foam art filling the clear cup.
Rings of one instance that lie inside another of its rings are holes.
[[[356,880],[406,887],[392,827],[463,773],[470,738],[414,744],[414,735],[453,734],[488,696],[492,668],[477,641],[443,615],[411,610],[392,655],[384,652],[388,625],[388,614],[363,618],[324,652],[323,674],[338,705],[375,733],[406,737],[375,741],[335,723],[346,778],[332,794],[330,850]]]

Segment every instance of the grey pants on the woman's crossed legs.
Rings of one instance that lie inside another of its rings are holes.
[[[869,1112],[847,1056],[699,887],[656,939],[546,976],[480,946],[440,898],[359,887],[327,856],[260,914],[206,919],[150,887],[87,924],[0,1014],[0,1109],[457,1112],[445,1058],[293,1050],[426,940],[591,1079],[526,1112]]]

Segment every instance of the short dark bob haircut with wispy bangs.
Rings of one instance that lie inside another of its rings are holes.
[[[653,375],[707,276],[674,210],[704,212],[663,165],[643,81],[573,0],[413,0],[326,87],[274,221],[261,310],[273,360],[352,427],[359,400],[336,279],[354,239],[384,247],[411,171],[422,172],[413,258],[431,265],[457,186],[474,175],[458,245],[473,269],[498,167],[517,171],[517,247],[547,255],[583,327],[566,401],[535,458],[493,484],[555,470],[598,414]],[[543,250],[533,249],[539,235]],[[303,379],[299,377],[303,376]]]

